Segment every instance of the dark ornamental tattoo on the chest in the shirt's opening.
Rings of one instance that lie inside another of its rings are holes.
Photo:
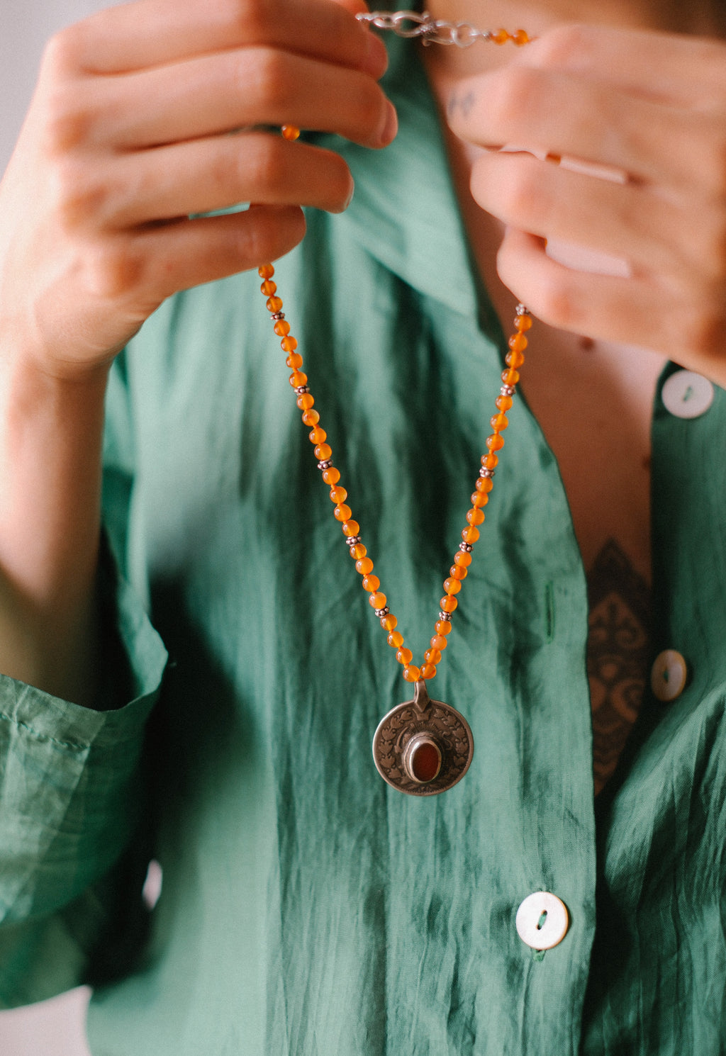
[[[650,660],[650,589],[611,540],[588,576],[588,592],[597,794],[615,770],[643,701]]]

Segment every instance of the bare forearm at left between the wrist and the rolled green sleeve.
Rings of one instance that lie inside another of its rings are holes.
[[[0,672],[75,703],[94,694],[107,372],[3,365]]]

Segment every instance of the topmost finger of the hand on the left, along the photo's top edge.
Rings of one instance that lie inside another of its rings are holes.
[[[137,0],[97,13],[56,38],[57,60],[117,74],[242,45],[267,44],[379,77],[383,42],[328,0]]]

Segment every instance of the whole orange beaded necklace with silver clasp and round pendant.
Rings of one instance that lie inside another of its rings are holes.
[[[454,44],[468,48],[477,40],[492,41],[497,44],[510,40],[515,44],[528,43],[524,30],[514,34],[506,30],[478,30],[468,22],[442,22],[428,13],[401,11],[396,13],[370,12],[356,16],[361,22],[369,22],[380,30],[391,30],[401,37],[420,37],[424,44]],[[285,139],[297,139],[299,129],[292,125],[282,126]],[[524,362],[527,346],[526,332],[532,326],[532,317],[523,304],[518,304],[515,314],[515,332],[508,340],[509,352],[505,357],[506,370],[502,372],[500,395],[495,404],[497,413],[490,419],[491,435],[486,438],[486,453],[481,458],[481,469],[471,494],[471,508],[466,514],[466,527],[462,530],[462,542],[454,554],[449,576],[444,581],[444,597],[435,621],[435,634],[424,653],[421,664],[413,663],[411,649],[404,644],[404,636],[397,629],[398,621],[391,612],[388,598],[380,589],[380,581],[373,573],[373,561],[360,536],[360,525],[353,520],[353,511],[347,505],[348,492],[340,484],[340,471],[333,465],[333,451],[328,444],[328,434],[320,425],[320,414],[315,410],[315,399],[303,372],[298,342],[291,334],[291,325],[282,310],[282,299],[278,296],[277,284],[273,280],[275,268],[262,264],[258,268],[262,279],[261,293],[266,297],[266,307],[274,323],[275,334],[281,339],[280,346],[286,353],[285,364],[291,370],[290,383],[297,397],[298,409],[302,412],[303,425],[310,427],[310,440],[323,482],[330,487],[330,497],[335,504],[333,516],[340,524],[355,570],[362,577],[362,587],[369,596],[380,626],[388,635],[388,644],[395,648],[396,660],[403,666],[404,679],[414,684],[413,699],[393,708],[383,717],[373,737],[373,759],[378,773],[390,786],[409,795],[435,795],[452,788],[469,769],[473,756],[473,737],[468,722],[454,708],[441,700],[432,700],[426,687],[436,674],[436,666],[448,644],[452,616],[459,601],[457,595],[462,589],[471,551],[479,539],[479,525],[484,522],[484,507],[489,502],[494,477],[499,465],[499,453],[504,447],[502,435],[509,425],[506,412],[510,409],[519,382],[519,369]]]

